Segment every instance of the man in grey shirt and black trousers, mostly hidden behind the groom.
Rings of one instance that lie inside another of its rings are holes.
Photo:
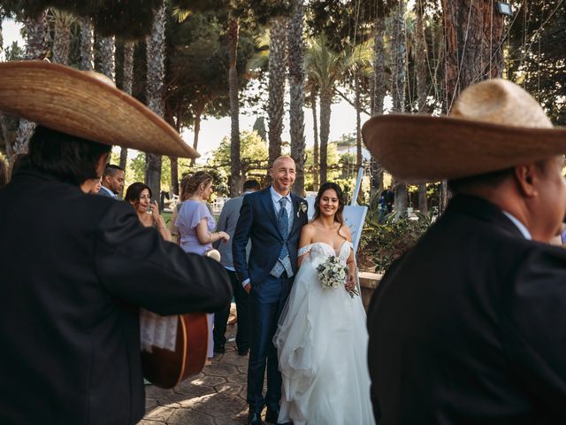
[[[218,218],[217,230],[224,230],[232,238],[236,230],[236,224],[240,217],[241,203],[243,197],[249,193],[256,192],[261,189],[259,182],[256,180],[248,180],[244,182],[243,195],[241,197],[234,197],[226,202],[222,208],[222,213]],[[215,245],[216,246],[216,245]],[[236,348],[238,354],[245,356],[249,352],[249,295],[238,282],[236,276],[236,269],[233,268],[232,258],[232,239],[227,243],[218,243],[218,251],[221,255],[222,266],[226,268],[230,281],[232,282],[233,295],[236,301],[236,316],[238,318],[238,326],[236,331]],[[249,247],[247,248],[249,255]],[[232,303],[226,305],[226,308],[219,311],[214,315],[214,352],[223,353],[226,351],[226,323],[230,316],[230,306]]]

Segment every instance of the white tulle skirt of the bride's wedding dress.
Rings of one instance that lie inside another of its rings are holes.
[[[322,288],[316,267],[323,260],[303,261],[274,337],[283,379],[279,422],[373,424],[362,300]]]

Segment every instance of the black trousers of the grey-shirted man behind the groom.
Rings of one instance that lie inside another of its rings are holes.
[[[238,350],[249,349],[249,295],[238,282],[236,272],[226,270],[232,282],[233,296],[236,301],[236,314],[238,315],[238,330],[236,332],[236,346]],[[226,344],[226,324],[230,316],[230,304],[214,314],[214,346],[221,347]]]

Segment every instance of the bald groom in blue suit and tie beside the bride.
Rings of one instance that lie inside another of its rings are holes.
[[[233,236],[233,267],[238,281],[249,292],[251,315],[248,366],[249,425],[277,423],[281,375],[273,335],[293,284],[297,245],[307,223],[307,203],[291,193],[295,166],[290,157],[279,157],[270,170],[272,186],[243,198]],[[246,244],[251,239],[249,262]],[[267,367],[267,392],[263,395]]]

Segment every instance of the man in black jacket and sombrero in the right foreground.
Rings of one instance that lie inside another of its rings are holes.
[[[402,182],[448,179],[454,194],[371,300],[376,420],[565,423],[566,251],[547,242],[566,213],[566,130],[503,80],[464,90],[451,115],[363,130]]]

